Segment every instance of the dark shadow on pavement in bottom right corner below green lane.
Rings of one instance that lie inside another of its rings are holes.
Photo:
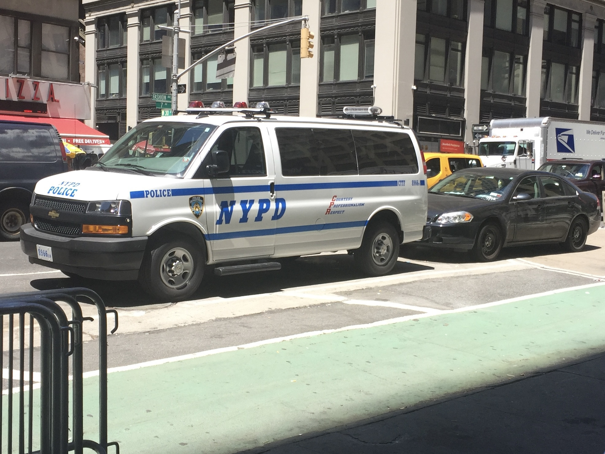
[[[603,353],[514,380],[240,454],[604,452]]]

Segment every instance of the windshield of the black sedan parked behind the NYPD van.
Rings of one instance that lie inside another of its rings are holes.
[[[434,185],[428,192],[448,194],[450,196],[473,197],[475,199],[502,199],[513,177],[495,177],[492,175],[452,174]]]

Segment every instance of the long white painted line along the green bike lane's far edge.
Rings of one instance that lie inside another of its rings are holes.
[[[107,372],[108,373],[125,372],[126,370],[142,369],[143,367],[159,366],[160,364],[168,364],[168,363],[175,363],[177,361],[192,360],[194,358],[207,357],[210,355],[216,355],[216,354],[226,353],[226,352],[235,352],[235,351],[241,350],[241,349],[250,349],[250,348],[254,348],[254,347],[260,347],[263,345],[276,344],[276,343],[280,343],[283,341],[289,341],[289,340],[293,340],[293,339],[315,337],[315,336],[319,336],[322,334],[331,334],[331,333],[342,332],[342,331],[352,331],[353,329],[365,329],[365,328],[370,328],[370,327],[375,327],[375,326],[385,326],[385,325],[389,325],[389,324],[401,323],[403,321],[414,320],[417,318],[434,317],[435,315],[442,315],[442,314],[445,315],[445,314],[455,314],[457,312],[476,311],[477,309],[492,308],[494,306],[500,306],[502,304],[514,303],[516,301],[523,301],[523,300],[528,300],[531,298],[539,298],[539,297],[555,295],[555,294],[563,293],[563,292],[569,292],[569,291],[581,290],[581,289],[589,289],[589,288],[601,287],[601,286],[605,286],[605,283],[601,282],[601,283],[595,283],[595,284],[568,287],[568,288],[564,288],[564,289],[551,290],[548,292],[541,292],[541,293],[532,294],[532,295],[525,295],[522,297],[508,298],[506,300],[494,301],[493,303],[484,303],[484,304],[477,304],[476,306],[467,306],[465,308],[449,309],[446,311],[439,311],[439,314],[435,314],[434,312],[427,312],[425,314],[406,315],[405,317],[390,318],[388,320],[380,320],[380,321],[374,321],[373,323],[345,326],[345,327],[337,328],[337,329],[323,329],[321,331],[304,332],[301,334],[293,334],[293,335],[284,336],[284,337],[261,340],[261,341],[252,342],[249,344],[242,344],[242,345],[236,345],[236,346],[231,346],[231,347],[222,347],[219,349],[206,350],[204,352],[180,355],[180,356],[172,357],[172,358],[163,358],[160,360],[145,361],[143,363],[130,364],[128,366],[110,367],[109,369],[107,369]],[[84,372],[83,378],[97,377],[98,375],[99,375],[99,370],[91,370],[90,372]]]

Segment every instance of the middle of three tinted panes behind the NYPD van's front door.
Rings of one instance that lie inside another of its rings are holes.
[[[350,130],[313,128],[320,175],[357,175],[355,144]]]

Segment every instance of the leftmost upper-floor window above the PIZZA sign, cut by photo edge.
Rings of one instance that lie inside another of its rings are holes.
[[[0,16],[0,73],[31,72],[31,22]]]

